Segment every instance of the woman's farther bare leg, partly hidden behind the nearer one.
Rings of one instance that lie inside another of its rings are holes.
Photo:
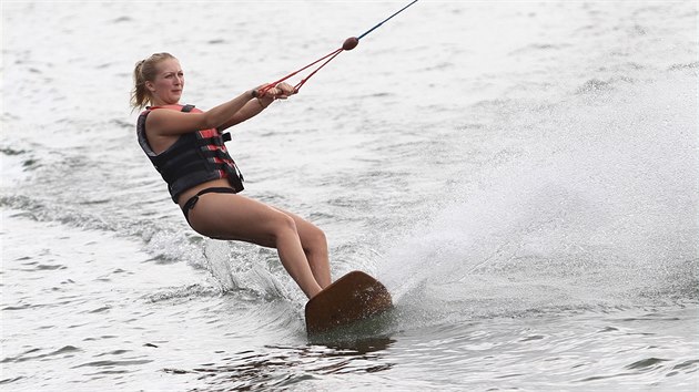
[[[313,277],[318,285],[321,285],[321,288],[328,287],[332,280],[325,233],[312,223],[293,213],[285,212],[280,208],[276,209],[294,219],[296,230],[298,231],[298,238],[301,239],[301,246],[303,247],[303,251],[306,254],[306,259],[308,259]]]

